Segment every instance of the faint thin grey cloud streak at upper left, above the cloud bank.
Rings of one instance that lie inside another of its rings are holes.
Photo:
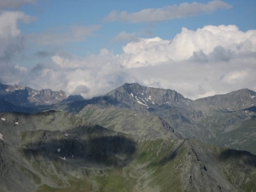
[[[101,26],[57,26],[41,33],[32,33],[27,36],[32,43],[39,45],[66,44],[68,42],[84,41]]]

